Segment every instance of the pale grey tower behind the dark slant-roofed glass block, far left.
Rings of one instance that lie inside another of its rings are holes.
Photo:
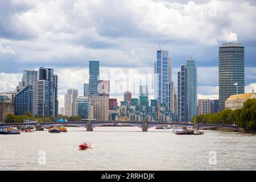
[[[20,90],[23,90],[28,85],[32,86],[32,96],[30,100],[32,100],[32,110],[29,110],[33,115],[38,114],[38,71],[23,71],[22,81],[19,82],[19,86],[17,88],[17,93]]]

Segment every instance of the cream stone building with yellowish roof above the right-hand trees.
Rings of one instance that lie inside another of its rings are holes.
[[[225,109],[241,109],[243,106],[243,103],[245,101],[249,100],[250,98],[256,98],[255,93],[244,93],[244,94],[236,94],[230,96],[226,101],[225,101]]]

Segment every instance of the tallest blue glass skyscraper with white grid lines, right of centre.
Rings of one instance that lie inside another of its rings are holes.
[[[168,51],[161,50],[156,52],[154,72],[155,98],[159,100],[160,104],[166,104],[168,110],[173,111],[171,57],[168,57]]]

